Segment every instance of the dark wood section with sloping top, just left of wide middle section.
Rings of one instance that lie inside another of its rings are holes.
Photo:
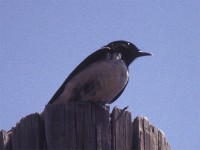
[[[12,129],[12,147],[14,150],[41,150],[44,147],[43,122],[38,113],[22,118]]]

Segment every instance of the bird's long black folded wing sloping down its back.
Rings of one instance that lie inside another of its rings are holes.
[[[105,54],[108,52],[108,48],[102,48],[91,55],[89,55],[86,59],[84,59],[72,72],[71,74],[67,77],[67,79],[63,82],[61,87],[57,90],[57,92],[53,95],[51,100],[48,102],[48,104],[52,104],[64,91],[66,84],[79,72],[81,72],[83,69],[85,69],[88,65],[97,62],[103,58],[105,58]]]

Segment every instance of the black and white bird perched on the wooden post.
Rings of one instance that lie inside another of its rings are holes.
[[[137,57],[150,55],[130,42],[111,42],[83,60],[48,104],[68,101],[90,101],[102,105],[113,103],[128,83],[128,66]]]

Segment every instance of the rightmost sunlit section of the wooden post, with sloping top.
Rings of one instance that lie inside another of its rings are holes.
[[[161,130],[151,125],[146,117],[138,116],[133,121],[134,150],[170,150]]]

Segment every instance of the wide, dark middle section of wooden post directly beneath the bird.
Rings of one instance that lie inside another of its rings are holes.
[[[109,108],[85,102],[48,105],[47,148],[110,149]]]

